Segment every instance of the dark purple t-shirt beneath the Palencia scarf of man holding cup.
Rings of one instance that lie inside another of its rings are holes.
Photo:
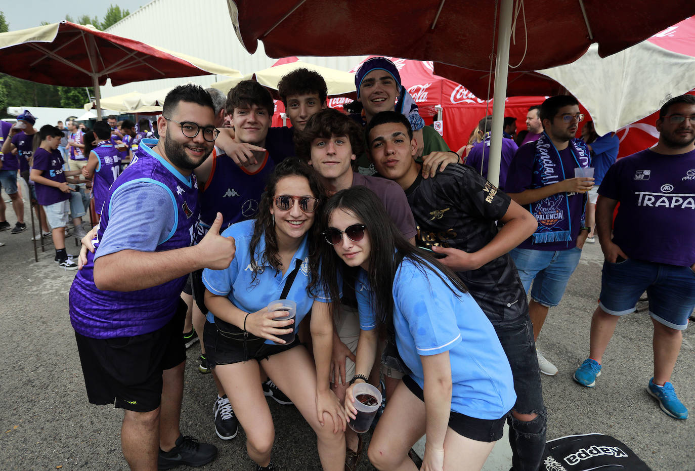
[[[570,147],[571,144],[564,150],[559,151],[560,159],[562,160],[562,168],[564,169],[564,180],[573,179],[574,169],[579,167],[577,161],[574,159]],[[531,189],[531,182],[533,179],[533,162],[535,156],[536,142],[524,144],[523,146],[519,147],[518,151],[516,151],[516,155],[512,159],[512,163],[509,164],[505,192],[521,193],[524,190]],[[543,242],[534,244],[533,236],[531,236],[518,245],[520,249],[567,250],[575,247],[575,240],[577,239],[579,231],[582,228],[581,220],[582,215],[584,214],[584,195],[582,193],[568,193],[567,199],[569,204],[569,217],[572,222],[572,232],[570,233],[572,240],[568,240],[566,242]],[[524,206],[524,208],[530,210],[531,205],[527,204]]]

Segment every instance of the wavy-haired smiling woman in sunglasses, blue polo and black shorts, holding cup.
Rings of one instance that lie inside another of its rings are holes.
[[[270,177],[256,220],[238,222],[222,233],[236,242],[229,268],[203,272],[205,304],[215,315],[215,324],[206,322],[204,329],[208,363],[246,432],[257,470],[275,469],[270,461],[275,429],[259,363],[316,431],[323,469],[343,470],[345,415],[328,382],[331,306],[317,286],[320,232],[314,218],[320,194],[311,167],[294,158],[284,160]],[[266,308],[285,293],[297,304],[296,323],[275,320],[287,313]],[[280,338],[296,330],[310,309],[316,367],[299,338],[289,344]]]

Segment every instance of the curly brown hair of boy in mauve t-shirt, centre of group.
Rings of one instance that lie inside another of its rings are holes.
[[[352,118],[338,110],[326,108],[306,121],[304,131],[295,129],[295,153],[308,162],[311,158],[311,142],[316,138],[330,139],[334,135],[344,135],[350,140],[352,154],[359,156],[364,149],[364,132]],[[353,160],[354,163],[354,160]]]

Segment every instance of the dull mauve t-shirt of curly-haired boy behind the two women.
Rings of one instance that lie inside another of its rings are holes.
[[[418,230],[415,226],[413,212],[405,192],[398,183],[382,179],[379,176],[367,176],[353,172],[352,186],[364,186],[375,192],[384,204],[386,213],[389,213],[393,224],[400,229],[404,238],[409,239],[416,236]]]

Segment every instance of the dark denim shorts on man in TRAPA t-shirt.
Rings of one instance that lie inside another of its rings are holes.
[[[654,320],[671,329],[685,330],[695,308],[695,272],[690,267],[634,258],[603,263],[598,301],[603,311],[612,315],[632,313],[644,291]]]

